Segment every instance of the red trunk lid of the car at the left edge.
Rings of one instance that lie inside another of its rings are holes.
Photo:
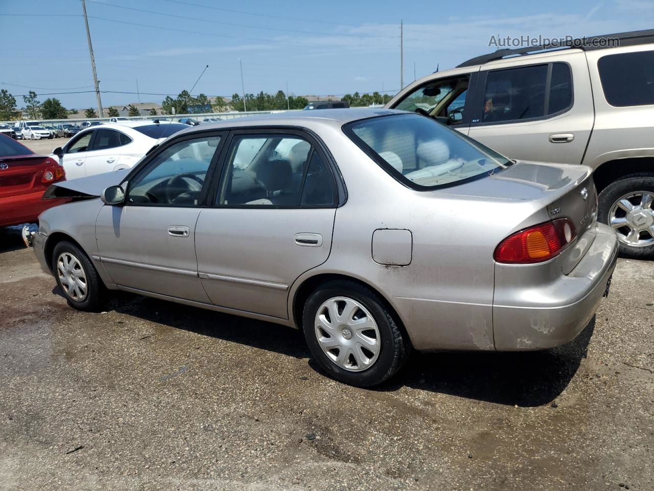
[[[43,155],[0,157],[0,197],[46,189],[43,171],[55,162]]]

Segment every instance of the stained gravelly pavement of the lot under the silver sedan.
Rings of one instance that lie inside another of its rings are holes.
[[[77,312],[16,228],[0,271],[1,490],[654,489],[654,263],[620,260],[565,346],[414,354],[377,390],[278,325]]]

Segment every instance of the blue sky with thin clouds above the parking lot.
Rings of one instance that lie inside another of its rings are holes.
[[[330,2],[285,0],[86,0],[101,90],[136,92],[161,102],[193,94],[241,92],[346,94],[400,87],[400,20],[404,82],[493,51],[492,35],[597,35],[654,26],[653,0]],[[92,107],[80,0],[0,0],[0,88],[14,96],[33,88],[43,101]],[[27,16],[13,14],[28,14]],[[38,14],[38,15],[37,15]],[[52,14],[58,14],[54,16]],[[118,21],[118,22],[116,22]],[[137,25],[141,24],[141,25]],[[151,27],[146,27],[151,26]],[[43,95],[41,95],[43,94]],[[22,106],[22,98],[16,97]],[[137,94],[103,94],[103,105]]]

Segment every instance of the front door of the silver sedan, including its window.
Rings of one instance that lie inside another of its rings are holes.
[[[198,278],[196,222],[222,134],[191,134],[144,160],[123,184],[123,206],[95,223],[101,261],[122,289],[211,303]]]

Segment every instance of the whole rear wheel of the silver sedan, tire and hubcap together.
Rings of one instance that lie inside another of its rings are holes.
[[[302,326],[314,359],[330,376],[359,387],[402,367],[409,342],[383,300],[351,282],[328,282],[305,302]]]

